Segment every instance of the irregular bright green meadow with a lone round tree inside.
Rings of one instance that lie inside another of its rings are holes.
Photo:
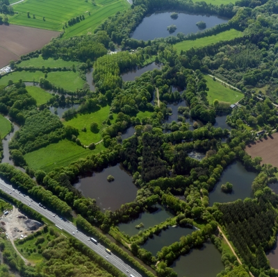
[[[92,142],[99,142],[101,140],[101,127],[102,121],[106,120],[109,114],[109,106],[97,110],[97,112],[91,112],[85,115],[76,115],[69,121],[63,121],[63,124],[70,125],[79,130],[79,140],[85,145],[89,145]],[[99,133],[92,133],[90,131],[90,124],[96,122],[99,126]],[[86,127],[87,131],[83,132],[81,129]]]

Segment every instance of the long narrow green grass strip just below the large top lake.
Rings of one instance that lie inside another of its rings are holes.
[[[197,38],[197,40],[184,40],[183,42],[174,44],[174,49],[177,49],[179,53],[181,50],[186,51],[192,47],[205,47],[206,45],[215,44],[217,42],[220,42],[221,40],[232,40],[235,37],[240,37],[241,35],[243,35],[242,32],[237,31],[235,29],[231,29],[229,31],[218,33],[217,35]]]

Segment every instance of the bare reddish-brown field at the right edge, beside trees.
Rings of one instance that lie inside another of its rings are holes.
[[[274,133],[265,140],[258,140],[246,146],[245,151],[252,157],[261,157],[262,164],[278,167],[278,133]]]

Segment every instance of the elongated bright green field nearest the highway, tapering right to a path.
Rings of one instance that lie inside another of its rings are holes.
[[[95,150],[89,150],[70,140],[60,140],[56,144],[49,144],[47,147],[27,153],[24,158],[32,169],[42,169],[49,172],[55,167],[66,167],[70,165],[70,162],[85,158],[92,153],[99,153],[102,150],[104,150],[103,144],[97,144]]]

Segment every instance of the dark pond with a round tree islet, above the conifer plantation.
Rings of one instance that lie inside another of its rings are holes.
[[[227,203],[252,197],[251,185],[256,176],[255,172],[247,171],[241,162],[236,161],[228,165],[222,172],[220,181],[216,183],[213,191],[209,194],[210,205],[213,205],[214,202]],[[233,185],[231,193],[224,193],[221,190],[221,185],[226,182]]]

